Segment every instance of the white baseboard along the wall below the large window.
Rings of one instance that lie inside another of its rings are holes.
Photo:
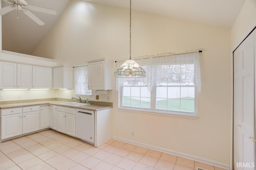
[[[202,162],[204,164],[217,166],[217,167],[220,167],[220,168],[223,168],[223,169],[226,169],[226,170],[230,169],[230,165],[224,164],[224,163],[221,163],[221,162],[216,162],[214,160],[208,160],[208,159],[205,159],[205,158],[200,158],[200,157],[197,157],[197,156],[192,156],[192,155],[184,154],[184,153],[181,153],[181,152],[176,152],[174,150],[168,150],[168,149],[164,149],[164,148],[160,148],[160,147],[155,147],[155,146],[152,146],[152,145],[148,145],[148,144],[144,144],[144,143],[140,143],[140,142],[136,142],[136,141],[131,141],[131,140],[120,138],[120,137],[113,137],[113,139],[118,140],[118,141],[122,141],[122,142],[125,142],[125,143],[130,143],[130,144],[133,144],[133,145],[137,145],[137,146],[140,146],[140,147],[144,147],[144,148],[148,148],[148,149],[157,150],[157,151],[160,151],[160,152],[172,154],[172,155],[175,155],[175,156],[180,156],[182,158],[187,158],[187,159],[194,160],[194,161],[197,161],[197,162]]]

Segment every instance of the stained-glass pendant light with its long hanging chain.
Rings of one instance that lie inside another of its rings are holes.
[[[126,60],[116,72],[114,76],[117,78],[129,78],[129,77],[146,77],[146,71],[140,67],[136,61],[131,59],[132,49],[132,0],[130,0],[130,59]]]

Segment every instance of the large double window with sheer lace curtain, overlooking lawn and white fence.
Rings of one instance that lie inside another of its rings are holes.
[[[147,77],[118,78],[121,108],[196,115],[196,89],[200,91],[197,53],[136,62]]]

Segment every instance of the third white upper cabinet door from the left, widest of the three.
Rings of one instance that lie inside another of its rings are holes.
[[[33,66],[32,69],[32,88],[52,88],[52,68]]]

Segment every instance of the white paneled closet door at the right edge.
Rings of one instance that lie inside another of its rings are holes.
[[[234,51],[234,169],[254,170],[254,33]]]

